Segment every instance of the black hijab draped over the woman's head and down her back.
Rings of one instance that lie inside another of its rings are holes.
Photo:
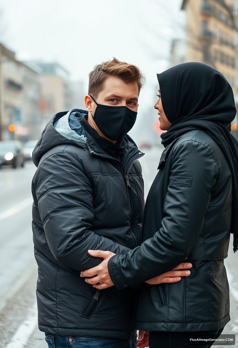
[[[167,147],[190,130],[202,129],[220,146],[232,175],[233,251],[238,250],[238,142],[231,132],[236,106],[231,86],[211,66],[182,63],[157,74],[161,102],[172,124],[161,134]]]

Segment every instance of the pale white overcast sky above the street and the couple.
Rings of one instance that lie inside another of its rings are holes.
[[[1,0],[0,41],[20,60],[59,62],[85,81],[85,92],[95,64],[115,56],[138,65],[146,76],[139,116],[156,101],[156,73],[168,68],[171,39],[181,36],[180,7],[181,0]]]

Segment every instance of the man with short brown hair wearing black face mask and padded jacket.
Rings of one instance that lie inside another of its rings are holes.
[[[38,323],[49,347],[136,345],[136,291],[94,289],[80,272],[102,261],[88,249],[126,254],[141,244],[144,185],[138,158],[144,153],[127,132],[136,120],[143,79],[136,66],[115,58],[96,65],[89,74],[87,111],[55,114],[34,148]],[[173,275],[184,271],[164,276]]]

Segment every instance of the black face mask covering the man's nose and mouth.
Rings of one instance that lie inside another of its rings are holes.
[[[97,107],[92,114],[93,120],[101,132],[111,140],[122,139],[135,124],[137,112],[127,106],[110,106],[98,104],[90,95]]]

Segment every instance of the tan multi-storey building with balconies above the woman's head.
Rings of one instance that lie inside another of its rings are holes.
[[[181,9],[186,12],[184,62],[203,62],[219,70],[231,85],[238,106],[237,2],[183,0]],[[236,117],[232,123],[235,133],[237,125]]]

